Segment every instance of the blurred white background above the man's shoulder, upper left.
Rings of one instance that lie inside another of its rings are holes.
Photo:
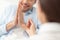
[[[18,1],[19,0],[0,0],[0,14],[3,12],[6,6],[17,5]]]

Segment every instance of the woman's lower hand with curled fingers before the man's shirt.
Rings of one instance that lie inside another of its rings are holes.
[[[27,26],[26,32],[29,34],[29,36],[33,36],[36,33],[36,29],[33,21],[29,19],[26,26]]]

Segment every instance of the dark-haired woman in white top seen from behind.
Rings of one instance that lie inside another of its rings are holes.
[[[26,32],[30,40],[60,40],[60,0],[39,0],[37,6],[38,19],[42,25],[34,36],[35,26],[29,19]]]

